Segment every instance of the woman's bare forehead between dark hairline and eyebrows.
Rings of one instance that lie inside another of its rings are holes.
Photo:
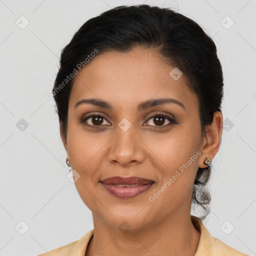
[[[75,75],[70,106],[90,97],[119,102],[119,107],[159,97],[195,106],[197,97],[190,92],[187,78],[182,74],[174,80],[169,74],[173,68],[151,48],[98,53]]]

